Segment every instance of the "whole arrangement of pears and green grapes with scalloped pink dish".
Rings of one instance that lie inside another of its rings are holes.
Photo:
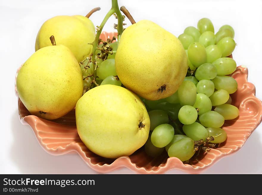
[[[202,18],[176,37],[112,0],[95,30],[97,10],[47,20],[18,70],[19,114],[48,152],[77,151],[99,172],[200,172],[244,144],[262,104],[232,58],[231,26],[214,34]],[[118,33],[108,35],[111,15]]]

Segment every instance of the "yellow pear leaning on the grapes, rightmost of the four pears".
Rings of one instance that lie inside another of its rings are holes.
[[[148,100],[175,93],[188,69],[180,40],[149,20],[141,20],[124,30],[115,64],[123,85]]]

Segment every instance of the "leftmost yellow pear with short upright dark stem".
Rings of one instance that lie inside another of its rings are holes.
[[[64,45],[43,47],[30,56],[18,72],[16,86],[27,110],[49,120],[74,109],[83,94],[80,66]]]

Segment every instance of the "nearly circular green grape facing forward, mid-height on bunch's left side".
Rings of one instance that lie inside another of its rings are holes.
[[[182,124],[192,124],[197,120],[197,110],[193,106],[182,106],[178,112],[178,119]]]

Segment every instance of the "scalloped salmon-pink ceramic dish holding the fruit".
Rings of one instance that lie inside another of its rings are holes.
[[[116,33],[102,33],[101,37],[116,36]],[[88,150],[78,136],[75,124],[75,111],[54,121],[47,121],[30,115],[18,97],[18,110],[21,122],[32,127],[42,148],[52,155],[63,155],[77,152],[89,167],[97,172],[106,173],[127,167],[140,174],[163,174],[171,169],[179,169],[190,174],[200,173],[221,158],[239,150],[262,119],[262,102],[255,97],[255,86],[247,81],[248,70],[238,66],[232,77],[238,83],[238,90],[231,94],[232,104],[238,107],[239,117],[225,121],[223,129],[227,132],[227,140],[219,148],[211,149],[209,153],[194,164],[183,164],[178,158],[168,158],[163,153],[157,158],[146,155],[140,148],[130,156],[108,159],[98,156]],[[16,90],[16,89],[15,89]]]

